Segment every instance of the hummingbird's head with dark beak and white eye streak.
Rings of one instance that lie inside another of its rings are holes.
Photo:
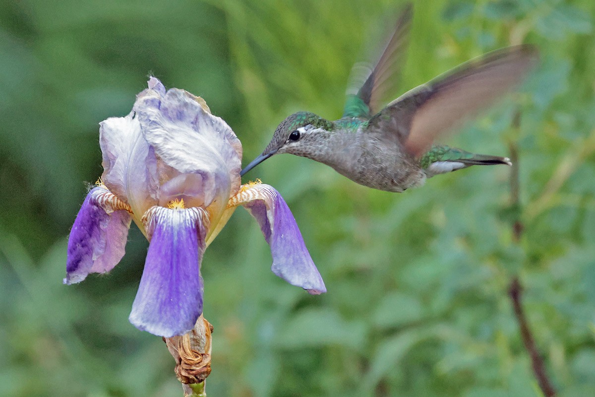
[[[309,157],[315,148],[324,145],[325,136],[333,129],[333,123],[311,112],[297,112],[277,126],[271,142],[261,155],[246,165],[243,176],[262,161],[274,154],[290,153]]]

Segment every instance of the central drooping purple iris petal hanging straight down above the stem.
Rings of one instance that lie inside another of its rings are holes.
[[[145,217],[151,242],[129,320],[155,335],[183,335],[202,313],[200,267],[208,217],[196,207],[152,207]]]

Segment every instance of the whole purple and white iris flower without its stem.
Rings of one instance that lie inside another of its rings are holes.
[[[203,252],[243,205],[271,246],[273,273],[326,292],[277,190],[240,186],[242,144],[225,121],[202,98],[166,91],[155,77],[148,85],[129,115],[101,123],[104,172],[71,229],[64,283],[114,268],[134,221],[149,249],[129,320],[155,335],[183,335],[202,314]]]

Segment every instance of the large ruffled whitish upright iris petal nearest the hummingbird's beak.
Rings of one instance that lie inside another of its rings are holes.
[[[188,207],[210,207],[216,221],[240,186],[242,145],[231,128],[201,98],[179,89],[145,90],[134,111],[158,167],[167,165],[159,168],[167,179],[159,204],[183,198]]]

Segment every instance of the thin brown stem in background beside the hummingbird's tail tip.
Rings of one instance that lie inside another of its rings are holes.
[[[521,124],[521,113],[517,110],[512,121],[512,127],[517,132]],[[521,240],[521,235],[524,230],[524,224],[521,221],[521,201],[520,201],[520,182],[519,182],[519,155],[518,146],[515,140],[509,142],[509,149],[511,152],[511,205],[515,211],[515,218],[512,222],[512,235],[516,243]],[[533,339],[533,333],[527,323],[527,317],[521,304],[522,287],[517,276],[512,278],[511,286],[509,287],[508,294],[511,296],[512,308],[515,311],[516,321],[519,324],[519,330],[521,332],[521,339],[525,345],[525,349],[531,357],[531,366],[533,367],[533,374],[537,379],[537,383],[541,389],[541,392],[546,397],[552,397],[556,395],[556,390],[552,386],[549,377],[546,374],[546,368],[543,363],[543,358],[537,351],[537,346]]]

